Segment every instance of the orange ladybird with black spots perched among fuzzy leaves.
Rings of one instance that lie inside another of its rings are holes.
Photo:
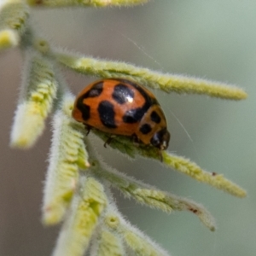
[[[155,96],[127,79],[102,79],[79,93],[73,118],[114,135],[133,137],[160,150],[168,147],[166,117]]]

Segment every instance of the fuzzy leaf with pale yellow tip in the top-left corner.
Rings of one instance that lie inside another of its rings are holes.
[[[0,49],[17,46],[26,31],[29,8],[23,0],[0,3]]]

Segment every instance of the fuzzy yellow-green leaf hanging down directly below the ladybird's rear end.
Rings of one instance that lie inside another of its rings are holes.
[[[43,222],[57,224],[70,205],[79,182],[79,168],[90,166],[81,126],[69,118],[73,96],[64,96],[61,110],[53,117],[53,139],[44,187]]]

